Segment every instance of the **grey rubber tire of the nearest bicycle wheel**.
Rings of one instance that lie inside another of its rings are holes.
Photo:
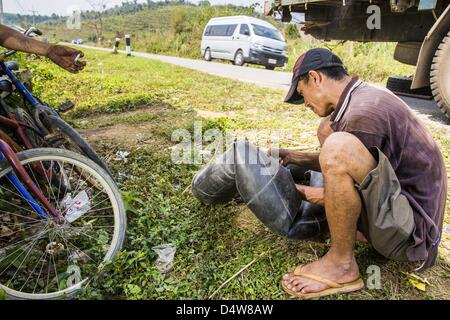
[[[117,241],[114,243],[113,249],[111,250],[110,257],[108,257],[105,261],[111,261],[115,254],[122,248],[123,243],[125,241],[125,234],[127,229],[127,216],[125,213],[125,206],[122,200],[122,196],[120,194],[120,191],[112,177],[105,172],[103,168],[98,166],[96,163],[94,163],[92,160],[86,158],[85,156],[82,156],[78,153],[75,153],[70,150],[64,150],[64,149],[55,149],[55,148],[37,148],[37,149],[30,149],[25,150],[22,152],[17,153],[17,157],[21,162],[31,160],[33,158],[39,158],[39,157],[63,157],[68,159],[73,159],[77,162],[81,162],[83,165],[90,167],[92,170],[97,172],[102,179],[106,182],[110,190],[112,191],[112,194],[114,195],[114,198],[117,201],[117,207],[118,207],[118,216],[119,216],[119,232]],[[5,174],[5,170],[10,170],[10,165],[6,159],[3,159],[0,161],[0,177]],[[78,290],[71,291],[65,294],[65,298],[72,298],[74,294],[76,294]],[[30,299],[30,297],[23,297],[23,296],[14,296],[11,294],[8,294],[6,292],[7,299]],[[59,297],[50,297],[46,299],[60,299]],[[32,299],[43,299],[41,297],[36,297]]]

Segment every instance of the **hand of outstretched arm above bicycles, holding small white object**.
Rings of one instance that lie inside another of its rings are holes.
[[[72,73],[79,72],[86,65],[86,62],[78,60],[84,56],[83,52],[67,46],[52,45],[48,48],[45,56],[61,68]]]

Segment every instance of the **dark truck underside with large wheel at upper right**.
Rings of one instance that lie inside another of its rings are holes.
[[[450,0],[273,0],[265,14],[320,40],[397,42],[394,59],[417,66],[411,89],[431,86],[450,117]],[[449,74],[449,75],[448,75]]]

